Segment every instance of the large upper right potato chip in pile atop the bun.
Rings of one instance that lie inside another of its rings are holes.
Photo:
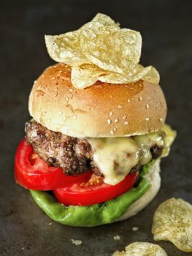
[[[90,22],[80,31],[80,45],[90,63],[124,74],[139,62],[142,37],[131,29]]]

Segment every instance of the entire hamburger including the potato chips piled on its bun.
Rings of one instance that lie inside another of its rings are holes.
[[[165,124],[158,72],[138,64],[135,51],[132,59],[126,56],[128,63],[120,55],[127,68],[116,64],[122,48],[115,59],[110,53],[106,59],[107,47],[99,48],[100,59],[98,53],[92,58],[88,52],[96,44],[87,35],[93,31],[103,47],[105,31],[117,43],[125,29],[99,14],[79,31],[45,38],[59,63],[34,83],[31,120],[15,155],[15,180],[30,189],[37,205],[61,224],[83,227],[127,219],[145,208],[160,188],[161,158],[175,138]],[[138,50],[139,32],[126,33],[137,35]]]

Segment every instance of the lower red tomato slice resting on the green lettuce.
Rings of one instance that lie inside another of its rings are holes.
[[[123,181],[112,186],[105,184],[103,178],[93,174],[83,183],[55,189],[53,192],[58,201],[66,206],[89,206],[114,199],[127,192],[134,186],[137,176],[138,172],[128,174]]]

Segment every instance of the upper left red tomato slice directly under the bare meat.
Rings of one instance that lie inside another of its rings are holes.
[[[67,176],[61,168],[49,167],[34,154],[25,139],[20,142],[15,154],[15,181],[26,189],[53,190],[88,180],[92,174]]]

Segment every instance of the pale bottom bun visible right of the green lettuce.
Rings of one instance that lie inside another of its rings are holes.
[[[137,214],[139,211],[142,211],[143,208],[147,206],[150,201],[153,200],[155,195],[157,195],[158,190],[161,187],[161,177],[159,175],[160,173],[160,162],[161,159],[158,159],[155,161],[154,165],[150,167],[149,173],[145,176],[147,180],[150,182],[151,187],[150,189],[136,202],[134,202],[126,211],[125,214],[123,214],[120,218],[116,219],[115,222],[119,222],[120,220],[128,219],[135,214]]]

